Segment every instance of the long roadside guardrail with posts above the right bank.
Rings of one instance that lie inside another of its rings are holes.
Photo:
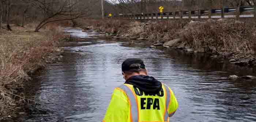
[[[251,12],[251,14],[249,14],[249,12]],[[225,13],[231,13],[231,14],[226,15]],[[158,12],[158,13],[145,13],[145,14],[119,14],[119,15],[113,15],[113,17],[128,18],[128,19],[191,19],[191,18],[200,19],[200,18],[229,18],[229,17],[255,17],[256,18],[256,7],[237,7],[237,8],[222,8],[222,9],[208,9],[208,10],[199,9],[195,11],[175,11],[175,12],[162,12],[162,13]]]

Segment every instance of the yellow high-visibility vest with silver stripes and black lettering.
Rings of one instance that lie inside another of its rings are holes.
[[[158,94],[123,84],[115,88],[103,122],[169,122],[177,108],[173,91],[163,83]]]

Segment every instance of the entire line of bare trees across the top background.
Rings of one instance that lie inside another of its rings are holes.
[[[104,15],[109,13],[151,13],[164,11],[185,11],[196,9],[254,6],[256,0],[103,0]],[[0,29],[10,24],[24,27],[26,23],[37,22],[35,32],[45,24],[74,20],[80,17],[101,16],[101,0],[0,0]],[[4,24],[2,24],[4,23]]]

